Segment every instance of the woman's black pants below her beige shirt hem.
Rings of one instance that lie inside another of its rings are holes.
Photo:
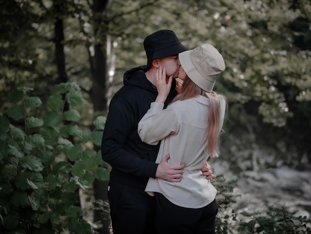
[[[156,229],[158,234],[215,234],[218,213],[216,200],[199,209],[176,206],[156,193]]]

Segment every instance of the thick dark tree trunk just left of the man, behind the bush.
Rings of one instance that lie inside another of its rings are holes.
[[[94,0],[92,11],[94,15],[94,32],[95,41],[94,55],[90,58],[91,62],[91,80],[92,87],[90,91],[90,99],[93,104],[94,113],[108,111],[108,88],[109,81],[107,75],[107,21],[104,18],[108,15],[111,0]],[[98,147],[95,150],[100,150]],[[108,181],[95,180],[93,184],[95,200],[107,202],[107,185]],[[100,221],[103,225],[101,229],[96,230],[100,234],[110,234],[110,214],[103,210],[94,210],[94,222]]]

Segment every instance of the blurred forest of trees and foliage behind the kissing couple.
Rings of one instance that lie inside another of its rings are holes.
[[[75,82],[84,101],[79,118],[67,120],[94,130],[124,72],[147,63],[143,40],[159,29],[173,30],[190,49],[210,43],[225,59],[215,91],[227,97],[229,112],[217,160],[236,171],[310,170],[309,0],[0,0],[1,116],[25,125],[9,112],[18,87],[33,88],[44,105],[32,113],[40,116],[51,109],[45,103],[55,85]],[[105,200],[108,173],[98,178],[94,197]]]

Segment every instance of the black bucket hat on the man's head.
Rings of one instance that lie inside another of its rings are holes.
[[[188,50],[178,40],[175,33],[171,30],[162,29],[147,36],[144,40],[144,48],[147,55],[147,67],[155,59],[178,55]]]

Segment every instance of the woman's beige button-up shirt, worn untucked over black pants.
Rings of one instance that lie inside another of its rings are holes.
[[[226,102],[222,102],[221,126],[225,116]],[[138,125],[138,133],[148,144],[161,140],[156,163],[167,153],[169,163],[185,163],[183,178],[180,182],[168,182],[150,178],[146,192],[163,194],[170,202],[186,208],[201,208],[210,204],[217,190],[202,176],[200,169],[209,155],[206,150],[209,100],[203,96],[177,101],[163,110],[163,104],[152,103],[147,114]]]

